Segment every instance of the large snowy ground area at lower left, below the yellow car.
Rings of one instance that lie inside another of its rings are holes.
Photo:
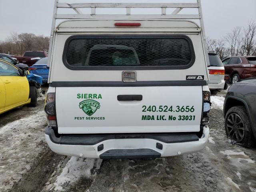
[[[46,118],[40,111],[0,128],[0,191],[12,188],[30,170],[31,158],[41,151]]]

